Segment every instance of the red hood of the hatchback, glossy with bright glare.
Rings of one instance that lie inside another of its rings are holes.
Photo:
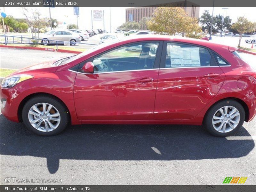
[[[58,66],[52,65],[56,61],[57,60],[51,60],[51,61],[46,61],[43,63],[36,64],[36,65],[31,65],[29,67],[19,69],[18,71],[15,71],[14,73],[12,73],[9,76],[36,75],[36,74],[42,74],[42,73],[52,73],[52,72],[55,72],[58,68]]]

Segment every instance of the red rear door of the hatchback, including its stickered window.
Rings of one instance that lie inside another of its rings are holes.
[[[224,79],[208,48],[164,42],[154,118],[194,118],[219,92]]]

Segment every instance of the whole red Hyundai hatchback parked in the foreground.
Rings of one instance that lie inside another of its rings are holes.
[[[21,69],[1,111],[39,135],[71,124],[194,124],[227,136],[256,112],[256,70],[236,48],[171,36],[126,38]]]

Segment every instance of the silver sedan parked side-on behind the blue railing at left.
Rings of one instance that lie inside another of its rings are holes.
[[[75,45],[81,42],[79,34],[68,30],[51,30],[42,34],[39,38],[42,39],[41,43],[44,45],[56,44],[57,42],[58,44],[64,44],[64,41],[70,42],[70,45]]]

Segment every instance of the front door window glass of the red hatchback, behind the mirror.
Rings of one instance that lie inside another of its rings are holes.
[[[158,42],[137,43],[119,47],[93,59],[95,72],[152,69]]]

